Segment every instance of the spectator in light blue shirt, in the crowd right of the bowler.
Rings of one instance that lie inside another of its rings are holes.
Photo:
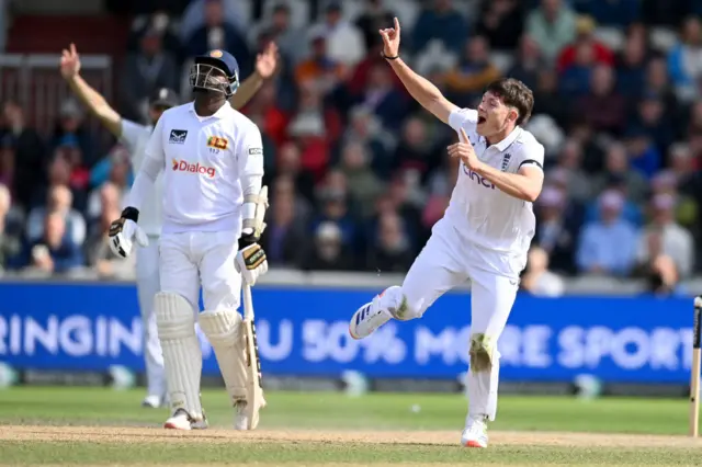
[[[587,224],[580,237],[576,261],[584,274],[627,276],[636,261],[638,234],[621,218],[624,197],[607,191],[599,198],[600,219]]]

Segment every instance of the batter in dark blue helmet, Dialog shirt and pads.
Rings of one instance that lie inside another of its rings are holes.
[[[163,172],[161,287],[154,309],[172,410],[165,428],[207,426],[200,400],[202,352],[194,328],[202,286],[205,311],[199,316],[200,328],[215,351],[236,409],[235,428],[253,430],[265,401],[260,386],[247,381],[247,346],[237,310],[241,281],[253,285],[268,271],[258,244],[263,226],[257,225],[268,205],[259,196],[261,133],[227,102],[239,87],[239,66],[231,54],[212,50],[196,57],[190,83],[194,101],[169,109],[156,124],[128,207],[111,226],[111,247],[126,257],[134,241],[148,244],[137,223]],[[249,403],[252,400],[258,402]]]

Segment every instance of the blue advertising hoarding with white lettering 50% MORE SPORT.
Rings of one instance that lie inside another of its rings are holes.
[[[372,292],[260,286],[253,291],[264,374],[455,379],[466,371],[467,294],[448,294],[422,319],[390,322],[362,341],[351,314]],[[0,283],[0,361],[18,368],[141,371],[133,285]],[[203,372],[217,364],[201,335]],[[499,342],[501,379],[686,384],[692,357],[690,298],[517,299]]]

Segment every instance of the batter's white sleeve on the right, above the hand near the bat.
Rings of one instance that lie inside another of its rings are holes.
[[[246,129],[239,144],[237,161],[245,200],[242,215],[245,219],[252,219],[256,214],[256,203],[246,202],[246,198],[258,195],[263,183],[263,139],[258,126],[251,125]]]

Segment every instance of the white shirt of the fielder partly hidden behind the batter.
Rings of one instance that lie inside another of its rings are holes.
[[[120,140],[132,156],[132,169],[137,173],[144,163],[144,150],[151,137],[152,126],[139,125],[128,119],[122,121],[122,137]],[[139,209],[139,226],[149,236],[161,234],[161,200],[163,198],[163,180],[159,174],[154,182],[154,192],[141,202]],[[126,207],[126,206],[125,206]]]

